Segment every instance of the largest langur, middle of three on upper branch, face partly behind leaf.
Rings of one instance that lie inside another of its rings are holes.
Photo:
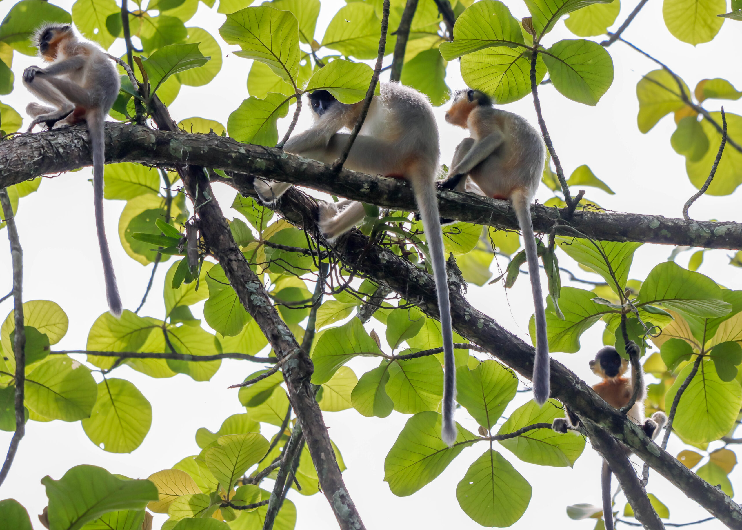
[[[309,94],[309,102],[314,113],[314,125],[292,137],[283,148],[289,153],[332,163],[340,156],[349,137],[349,134],[338,131],[351,129],[355,125],[364,102],[346,105],[322,90]],[[435,180],[439,157],[438,125],[430,101],[413,88],[387,82],[381,83],[381,94],[372,99],[345,167],[353,171],[402,178],[412,186],[436,280],[445,365],[442,438],[452,445],[457,434],[453,422],[456,367],[443,237],[436,200]],[[277,200],[289,186],[255,180],[257,193],[267,201]],[[320,210],[319,225],[325,237],[332,241],[360,223],[364,216],[361,203],[344,200],[336,205],[324,206]]]

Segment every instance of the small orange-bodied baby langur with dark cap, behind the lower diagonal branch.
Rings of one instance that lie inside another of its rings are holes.
[[[636,358],[639,358],[639,347],[634,344],[633,341],[628,343],[629,348],[634,348],[637,354]],[[628,361],[623,359],[616,348],[608,346],[600,350],[595,359],[590,361],[590,369],[597,375],[603,378],[603,381],[593,385],[593,390],[598,396],[605,399],[608,405],[614,408],[622,408],[627,405],[631,400],[631,396],[634,393],[634,387],[639,385],[639,396],[634,406],[628,410],[628,418],[637,425],[642,425],[642,428],[647,436],[651,439],[657,438],[662,430],[663,426],[667,422],[667,416],[663,412],[655,412],[651,418],[644,418],[644,399],[646,399],[646,386],[644,384],[644,373],[639,369],[639,380],[637,381],[634,376],[634,370],[631,370],[631,379],[626,379],[623,374],[628,370]],[[574,415],[570,410],[565,408],[565,418],[554,419],[551,428],[554,431],[560,433],[567,432],[567,429],[571,427],[578,427],[580,425],[580,419]],[[611,468],[608,467],[608,462],[603,460],[603,472],[601,476],[601,486],[603,489],[603,520],[605,521],[605,529],[613,530],[613,507],[611,505]]]

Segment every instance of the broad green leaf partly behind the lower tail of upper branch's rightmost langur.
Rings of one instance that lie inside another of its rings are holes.
[[[577,353],[580,351],[580,336],[585,333],[601,316],[607,313],[607,307],[592,301],[595,293],[562,287],[559,296],[559,309],[564,319],[554,313],[554,303],[551,297],[546,298],[546,331],[548,334],[549,350],[552,352]],[[528,323],[531,341],[535,341],[536,327],[531,316]]]

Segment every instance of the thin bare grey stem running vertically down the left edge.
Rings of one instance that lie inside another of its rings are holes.
[[[7,456],[0,469],[0,485],[5,481],[10,466],[13,465],[13,459],[16,457],[18,446],[21,439],[26,433],[26,414],[23,406],[25,370],[26,370],[26,333],[23,320],[23,249],[21,240],[18,237],[16,229],[16,217],[13,215],[13,207],[10,206],[10,197],[7,189],[0,190],[0,204],[2,205],[3,217],[7,224],[7,238],[10,240],[10,258],[13,261],[13,314],[15,318],[16,330],[13,340],[13,355],[16,357],[16,377],[13,382],[16,387],[16,432],[10,439],[10,446],[7,448]]]

